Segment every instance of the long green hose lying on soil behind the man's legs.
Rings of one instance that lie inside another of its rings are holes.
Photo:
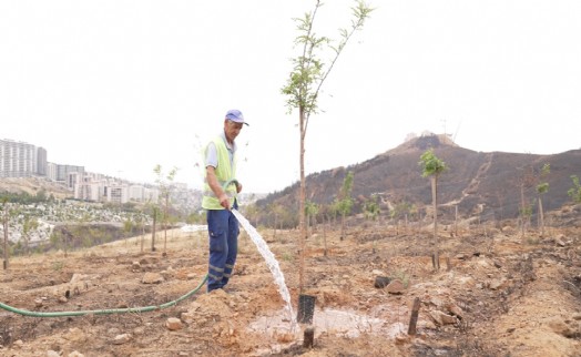
[[[146,312],[153,312],[163,309],[166,307],[171,307],[180,303],[181,300],[192,296],[195,294],[204,284],[207,282],[207,275],[204,276],[202,279],[202,283],[196,286],[193,290],[190,293],[183,295],[182,297],[169,302],[162,305],[152,305],[152,306],[145,306],[145,307],[128,307],[128,308],[110,308],[110,309],[101,309],[101,310],[79,310],[79,312],[53,312],[53,313],[40,313],[40,312],[31,312],[26,309],[16,308],[6,304],[0,303],[0,307],[24,316],[32,316],[32,317],[63,317],[63,316],[82,316],[82,315],[108,315],[108,314],[125,314],[125,313],[146,313]]]

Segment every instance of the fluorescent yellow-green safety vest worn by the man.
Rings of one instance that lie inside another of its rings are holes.
[[[236,172],[236,153],[234,153],[234,157],[232,160],[232,164],[230,162],[230,155],[228,155],[228,149],[226,147],[226,143],[222,139],[222,136],[215,137],[213,141],[214,146],[216,147],[217,153],[217,167],[214,171],[216,174],[216,178],[218,181],[218,184],[223,186],[226,182],[234,178],[234,174]],[[207,146],[206,150],[204,150],[204,163],[205,157],[207,155]],[[210,188],[210,185],[207,184],[207,173],[204,170],[204,197],[202,198],[202,207],[205,210],[224,210],[223,206],[220,205],[220,201]],[[236,186],[230,185],[225,190],[226,194],[230,197],[236,196]]]

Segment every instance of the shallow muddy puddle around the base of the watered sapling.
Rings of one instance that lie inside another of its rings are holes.
[[[261,316],[248,325],[248,329],[261,334],[266,332],[271,337],[288,333],[288,320],[285,315],[286,313],[281,310],[269,316]],[[393,324],[356,312],[330,308],[323,310],[315,308],[313,326],[315,327],[315,337],[326,333],[348,338],[357,338],[361,334],[395,338],[397,335],[407,332],[407,327],[402,323]]]

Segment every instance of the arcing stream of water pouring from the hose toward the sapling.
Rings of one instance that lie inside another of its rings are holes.
[[[252,226],[252,224],[246,220],[238,211],[232,210],[232,213],[238,220],[239,224],[243,226],[244,231],[248,233],[251,236],[252,242],[256,245],[258,248],[258,252],[264,257],[264,261],[266,262],[266,265],[268,266],[268,269],[271,269],[271,273],[274,277],[274,283],[278,286],[278,293],[281,293],[281,296],[286,303],[286,310],[288,312],[289,318],[290,318],[290,329],[296,329],[296,317],[295,313],[293,310],[293,305],[290,304],[290,293],[288,292],[288,287],[285,283],[285,276],[283,275],[283,271],[281,271],[281,266],[278,265],[278,261],[274,256],[273,252],[271,252],[271,248],[266,244],[266,242],[263,239],[262,235]]]

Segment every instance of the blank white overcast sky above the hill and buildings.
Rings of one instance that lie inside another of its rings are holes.
[[[581,147],[581,1],[369,3],[312,116],[307,173],[426,130],[482,152]],[[298,180],[298,119],[281,94],[292,18],[314,4],[1,1],[0,139],[137,182],[176,166],[177,182],[200,187],[197,152],[235,108],[251,123],[237,140],[245,191],[283,190]],[[337,39],[351,4],[327,0],[317,33]]]

